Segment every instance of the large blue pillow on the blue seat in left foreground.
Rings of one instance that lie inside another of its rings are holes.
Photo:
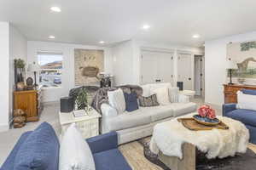
[[[43,122],[20,145],[14,170],[58,170],[59,140],[53,127]]]

